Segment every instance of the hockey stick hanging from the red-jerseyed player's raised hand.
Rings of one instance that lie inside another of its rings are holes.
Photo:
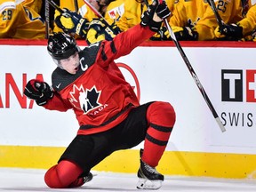
[[[144,0],[145,2],[147,0]],[[159,4],[162,4],[163,3],[163,0],[159,0]],[[148,2],[146,3],[148,4]],[[147,5],[148,6],[148,5]],[[198,89],[200,90],[200,92],[202,93],[203,97],[204,97],[204,100],[206,102],[206,104],[208,105],[208,107],[210,108],[210,110],[212,111],[212,116],[214,116],[217,124],[220,126],[220,130],[221,132],[226,132],[226,129],[224,127],[224,125],[221,123],[220,121],[220,117],[218,116],[215,108],[213,108],[212,106],[212,102],[211,100],[209,99],[208,95],[206,94],[206,92],[204,91],[204,87],[203,85],[200,83],[198,77],[196,76],[196,72],[195,70],[192,68],[189,60],[188,60],[188,57],[186,56],[185,52],[183,51],[179,41],[176,39],[176,36],[174,35],[173,31],[172,31],[172,28],[170,26],[170,24],[168,23],[168,20],[164,19],[164,25],[166,26],[166,28],[168,29],[169,33],[170,33],[170,36],[172,36],[172,41],[174,42],[174,44],[176,45],[178,51],[180,52],[180,55],[182,57],[182,59],[184,60],[185,64],[187,65],[188,67],[188,70],[191,74],[191,76],[194,78],[194,81],[198,87]]]

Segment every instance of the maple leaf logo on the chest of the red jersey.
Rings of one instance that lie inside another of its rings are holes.
[[[77,87],[76,84],[73,85],[73,91],[70,92],[71,98],[70,102],[76,107],[84,111],[84,114],[87,114],[94,108],[99,108],[102,106],[100,104],[100,92],[97,88],[92,86],[92,89],[84,90],[84,86],[81,85]]]

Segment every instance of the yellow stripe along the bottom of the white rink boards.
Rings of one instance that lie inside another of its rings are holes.
[[[57,164],[65,148],[0,146],[0,167],[49,169]],[[156,167],[164,175],[216,178],[256,178],[256,155],[165,151]],[[108,156],[94,171],[136,173],[140,166],[138,149],[120,150]]]

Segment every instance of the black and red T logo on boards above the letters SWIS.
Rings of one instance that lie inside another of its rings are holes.
[[[222,101],[256,102],[256,69],[221,70],[221,91]]]

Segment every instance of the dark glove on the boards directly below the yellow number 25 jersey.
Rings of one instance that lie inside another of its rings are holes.
[[[215,28],[214,34],[220,40],[239,40],[243,37],[243,28],[234,23],[218,26]]]

